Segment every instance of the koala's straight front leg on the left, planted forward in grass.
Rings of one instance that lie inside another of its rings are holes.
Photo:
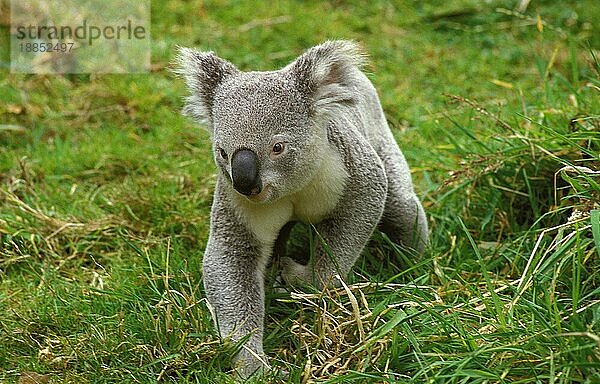
[[[226,196],[215,194],[203,259],[204,287],[221,337],[248,337],[234,359],[236,373],[247,378],[269,368],[262,346],[267,260],[230,203]]]

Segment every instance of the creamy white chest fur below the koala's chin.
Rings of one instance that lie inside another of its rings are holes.
[[[324,219],[342,197],[347,179],[341,156],[331,151],[300,191],[267,204],[250,203],[241,196],[236,200],[243,219],[259,241],[272,244],[281,228],[291,220],[318,223]]]

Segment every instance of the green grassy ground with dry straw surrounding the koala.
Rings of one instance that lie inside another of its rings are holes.
[[[231,381],[201,281],[215,167],[169,61],[180,44],[273,69],[338,37],[370,55],[432,247],[376,234],[348,287],[269,292],[273,365],[290,383],[600,382],[600,7],[438,3],[153,1],[140,75],[11,75],[4,12],[0,382]]]

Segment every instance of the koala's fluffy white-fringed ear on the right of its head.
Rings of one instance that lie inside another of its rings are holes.
[[[296,79],[300,92],[312,99],[317,112],[331,112],[336,105],[354,103],[353,79],[365,58],[357,43],[333,40],[310,48],[284,70]]]

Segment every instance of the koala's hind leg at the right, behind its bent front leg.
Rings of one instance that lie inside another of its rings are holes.
[[[421,254],[427,246],[427,218],[419,198],[388,174],[388,195],[379,228],[395,243]]]

